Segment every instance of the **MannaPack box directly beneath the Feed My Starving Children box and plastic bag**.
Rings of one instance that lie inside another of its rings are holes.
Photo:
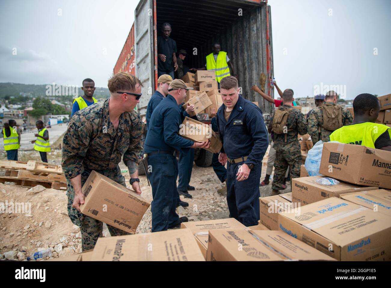
[[[324,176],[308,176],[292,179],[292,202],[300,203],[301,206],[321,201],[325,198],[339,197],[340,194],[358,191],[375,190],[377,187],[357,186],[351,183],[341,182],[335,185],[321,185],[317,179]]]

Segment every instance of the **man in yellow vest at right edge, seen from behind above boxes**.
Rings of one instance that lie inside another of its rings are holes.
[[[335,130],[330,141],[391,151],[391,128],[375,123],[380,111],[378,98],[367,93],[358,95],[353,101],[353,111],[353,123]]]

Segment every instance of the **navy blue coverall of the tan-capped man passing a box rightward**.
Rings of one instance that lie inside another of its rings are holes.
[[[179,136],[181,124],[181,110],[171,95],[160,101],[152,112],[147,138],[145,139],[145,153],[160,152],[147,157],[152,172],[149,181],[152,187],[153,201],[152,232],[167,230],[179,223],[176,214],[178,163],[174,156],[175,149],[189,148],[193,141]]]

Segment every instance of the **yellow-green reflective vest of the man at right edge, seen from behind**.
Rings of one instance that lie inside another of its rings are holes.
[[[391,128],[380,123],[364,122],[346,125],[332,132],[330,141],[375,148],[375,141],[387,130],[391,136]]]

